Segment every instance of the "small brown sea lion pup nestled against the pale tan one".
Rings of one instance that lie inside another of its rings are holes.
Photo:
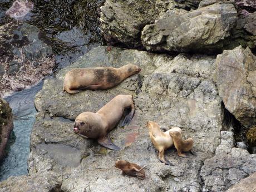
[[[193,147],[194,141],[192,138],[184,140],[182,139],[181,132],[175,130],[170,130],[169,134],[171,137],[173,137],[174,146],[177,149],[178,155],[180,157],[187,157],[185,154],[182,153],[183,151],[190,151],[191,154],[193,155],[191,149]]]

